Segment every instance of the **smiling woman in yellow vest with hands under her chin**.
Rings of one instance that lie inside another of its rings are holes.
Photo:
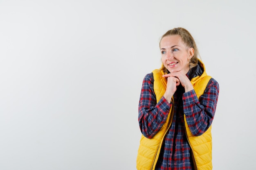
[[[211,123],[219,85],[184,28],[160,40],[162,68],[144,77],[139,100],[138,170],[211,170]]]

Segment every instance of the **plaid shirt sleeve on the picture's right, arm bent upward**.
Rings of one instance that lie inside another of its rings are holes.
[[[202,135],[211,126],[216,111],[219,84],[211,78],[200,100],[195,90],[183,94],[183,110],[191,133]]]

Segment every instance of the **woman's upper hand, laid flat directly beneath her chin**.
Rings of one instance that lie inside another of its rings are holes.
[[[180,84],[184,87],[185,92],[189,92],[191,90],[193,90],[193,85],[191,84],[189,78],[182,72],[173,72],[173,73],[169,73],[169,74],[164,74],[163,77],[176,77],[180,80]]]

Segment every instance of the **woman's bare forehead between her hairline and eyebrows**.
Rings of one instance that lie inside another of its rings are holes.
[[[180,35],[168,35],[163,37],[160,42],[160,47],[165,46],[185,46],[185,44],[182,41]]]

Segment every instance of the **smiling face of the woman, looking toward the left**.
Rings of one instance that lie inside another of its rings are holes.
[[[168,35],[160,42],[162,62],[169,72],[189,71],[189,59],[193,57],[194,49],[186,47],[180,35]]]

